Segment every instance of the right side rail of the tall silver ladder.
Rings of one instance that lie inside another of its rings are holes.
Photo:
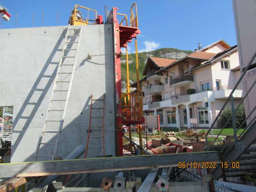
[[[55,147],[54,147],[52,160],[55,158],[55,155],[57,153],[57,149],[58,149],[58,145],[59,145],[59,141],[60,141],[60,133],[61,133],[61,130],[62,130],[62,127],[63,127],[64,118],[65,118],[65,115],[66,115],[66,110],[67,110],[67,106],[68,106],[68,99],[69,99],[69,95],[70,95],[70,90],[71,90],[71,86],[72,86],[72,81],[73,81],[73,77],[74,77],[75,68],[76,68],[76,59],[77,59],[77,54],[78,54],[78,48],[79,48],[80,39],[81,39],[81,36],[82,36],[82,29],[83,29],[83,25],[81,25],[81,28],[80,28],[78,43],[77,43],[77,46],[76,46],[76,55],[75,55],[75,59],[74,59],[74,62],[73,62],[73,68],[72,68],[70,82],[69,82],[69,86],[68,86],[68,93],[67,93],[67,97],[66,97],[62,117],[61,117],[61,120],[60,120],[58,139],[57,139],[57,142],[56,142]]]

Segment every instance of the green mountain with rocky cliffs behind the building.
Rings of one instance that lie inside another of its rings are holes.
[[[159,58],[167,58],[167,59],[182,59],[186,57],[188,54],[193,53],[193,51],[185,51],[174,48],[161,48],[150,52],[141,52],[138,53],[138,64],[139,64],[139,79],[143,78],[142,73],[145,68],[145,64],[147,63],[148,57],[159,57]],[[129,79],[132,82],[137,81],[136,75],[136,59],[135,53],[128,55],[128,63],[129,63]],[[122,86],[122,90],[125,90],[127,77],[126,77],[126,56],[123,55],[121,57],[121,79],[124,81],[124,85]],[[123,83],[122,83],[123,84]],[[123,91],[122,91],[123,92]],[[125,91],[124,91],[125,92]]]

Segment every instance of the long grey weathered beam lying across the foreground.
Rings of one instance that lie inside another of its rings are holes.
[[[180,161],[188,163],[220,163],[220,157],[217,151],[206,151],[197,153],[0,164],[0,178],[152,169],[178,166]]]

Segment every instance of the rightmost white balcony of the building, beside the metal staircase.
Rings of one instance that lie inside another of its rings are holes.
[[[214,88],[215,99],[227,99],[233,88],[234,86],[221,86],[221,87]],[[243,98],[242,87],[236,88],[235,92],[233,93],[233,97],[234,99]]]

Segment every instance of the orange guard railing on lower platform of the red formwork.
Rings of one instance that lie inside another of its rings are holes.
[[[124,94],[122,98],[124,98],[123,112],[127,113],[125,119],[134,121],[142,120],[143,92],[141,90],[137,90],[137,92]]]

